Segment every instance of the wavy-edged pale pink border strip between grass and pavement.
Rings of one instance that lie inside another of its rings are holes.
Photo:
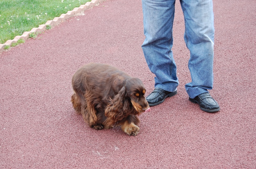
[[[24,32],[21,36],[16,36],[12,40],[7,40],[4,44],[0,44],[0,52],[4,51],[5,46],[11,46],[12,43],[16,43],[19,39],[28,39],[30,33],[44,32],[46,29],[46,25],[55,26],[57,24],[60,24],[61,22],[64,22],[66,19],[73,17],[74,15],[81,13],[97,4],[100,4],[103,1],[105,0],[92,0],[91,2],[87,2],[86,4],[81,5],[78,8],[74,8],[72,11],[68,11],[66,14],[61,14],[60,17],[55,17],[53,20],[47,21],[44,25],[40,25],[38,28],[33,28],[29,32]]]

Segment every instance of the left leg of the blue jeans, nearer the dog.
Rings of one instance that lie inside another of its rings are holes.
[[[142,0],[144,34],[143,53],[155,77],[155,88],[175,91],[179,82],[172,55],[172,25],[175,0]]]

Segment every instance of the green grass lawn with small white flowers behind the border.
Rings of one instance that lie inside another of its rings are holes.
[[[0,0],[0,44],[90,1]]]

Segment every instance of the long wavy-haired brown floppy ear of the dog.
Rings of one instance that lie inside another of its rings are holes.
[[[105,109],[105,116],[113,119],[115,122],[123,119],[125,90],[125,86],[123,86],[118,94],[115,95],[114,99],[110,99],[111,102],[108,103],[108,106]]]

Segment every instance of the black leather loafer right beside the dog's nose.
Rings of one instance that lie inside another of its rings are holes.
[[[168,92],[161,88],[155,88],[153,92],[146,97],[146,100],[148,101],[149,106],[155,106],[157,104],[164,102],[164,99],[166,97],[171,97],[176,94],[177,90],[175,90],[174,92]]]

